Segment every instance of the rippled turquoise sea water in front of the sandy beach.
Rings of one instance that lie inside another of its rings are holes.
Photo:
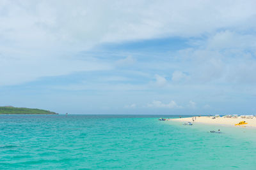
[[[159,117],[0,115],[0,169],[256,169],[255,129]]]

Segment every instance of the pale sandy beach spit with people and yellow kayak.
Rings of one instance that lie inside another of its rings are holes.
[[[194,121],[193,121],[194,119]],[[228,126],[234,126],[234,127],[256,127],[256,118],[223,118],[223,117],[216,117],[212,119],[212,117],[188,117],[188,118],[171,118],[170,121],[176,121],[176,122],[198,122],[203,124],[216,124],[216,125],[228,125]],[[245,125],[237,125],[241,121],[245,121],[248,124]]]

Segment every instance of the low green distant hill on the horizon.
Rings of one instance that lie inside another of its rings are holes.
[[[15,108],[13,106],[0,106],[0,115],[3,114],[24,114],[24,115],[58,115],[58,113],[29,108]]]

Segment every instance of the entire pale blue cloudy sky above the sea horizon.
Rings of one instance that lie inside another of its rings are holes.
[[[255,114],[256,1],[0,1],[0,106]]]

